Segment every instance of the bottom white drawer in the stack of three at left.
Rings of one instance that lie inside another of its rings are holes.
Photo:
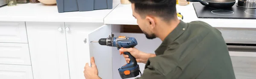
[[[33,79],[32,67],[0,64],[0,79]]]

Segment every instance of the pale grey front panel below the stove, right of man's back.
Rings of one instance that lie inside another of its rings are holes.
[[[230,51],[236,79],[256,78],[256,52]]]

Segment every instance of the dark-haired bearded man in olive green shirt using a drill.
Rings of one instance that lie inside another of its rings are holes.
[[[136,79],[236,79],[227,45],[221,32],[202,21],[178,20],[176,0],[130,0],[133,16],[148,39],[162,44],[155,54],[123,48],[137,62],[145,63]],[[129,63],[128,55],[124,55]],[[85,66],[86,79],[100,79],[92,58]]]

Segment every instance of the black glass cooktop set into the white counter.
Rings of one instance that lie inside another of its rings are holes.
[[[193,6],[198,18],[256,19],[255,8],[241,8],[236,4],[227,9],[210,8],[197,2]]]

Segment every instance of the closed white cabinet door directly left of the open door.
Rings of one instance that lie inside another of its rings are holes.
[[[104,24],[65,23],[70,79],[84,79],[85,63],[90,62],[88,34],[102,25]]]

